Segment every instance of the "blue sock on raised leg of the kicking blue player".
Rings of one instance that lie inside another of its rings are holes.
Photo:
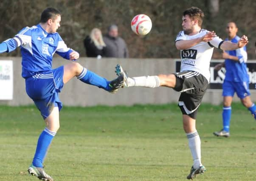
[[[83,69],[77,78],[86,84],[97,86],[99,88],[105,89],[106,91],[111,90],[111,87],[109,86],[110,81],[107,81],[107,79],[100,77],[96,73],[91,72],[86,68]]]

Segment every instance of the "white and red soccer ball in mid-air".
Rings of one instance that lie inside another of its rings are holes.
[[[132,18],[131,28],[137,35],[146,35],[152,28],[151,19],[146,14],[138,14]]]

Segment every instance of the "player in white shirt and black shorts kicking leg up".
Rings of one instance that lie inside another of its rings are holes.
[[[120,65],[117,65],[115,70],[117,75],[125,76],[125,87],[166,86],[181,92],[178,105],[183,114],[183,129],[194,160],[188,179],[206,171],[201,163],[201,141],[196,129],[196,116],[209,84],[213,49],[217,47],[222,50],[235,50],[248,43],[247,36],[242,36],[237,43],[231,43],[220,39],[214,31],[202,29],[203,17],[203,11],[197,7],[188,8],[183,12],[183,31],[178,33],[175,40],[175,46],[180,50],[181,56],[180,72],[129,78]]]

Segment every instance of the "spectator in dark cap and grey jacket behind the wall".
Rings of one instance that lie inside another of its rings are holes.
[[[129,53],[124,39],[118,36],[117,25],[110,25],[108,34],[103,37],[106,47],[104,47],[104,57],[128,58]]]

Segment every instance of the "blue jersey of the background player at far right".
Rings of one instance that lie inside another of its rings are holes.
[[[231,42],[237,43],[240,37],[234,37]],[[228,39],[225,39],[228,40]],[[235,81],[235,82],[247,82],[249,81],[249,76],[247,73],[247,53],[246,47],[242,47],[236,50],[226,51],[231,56],[238,57],[239,61],[233,61],[231,59],[225,59],[225,80]]]

